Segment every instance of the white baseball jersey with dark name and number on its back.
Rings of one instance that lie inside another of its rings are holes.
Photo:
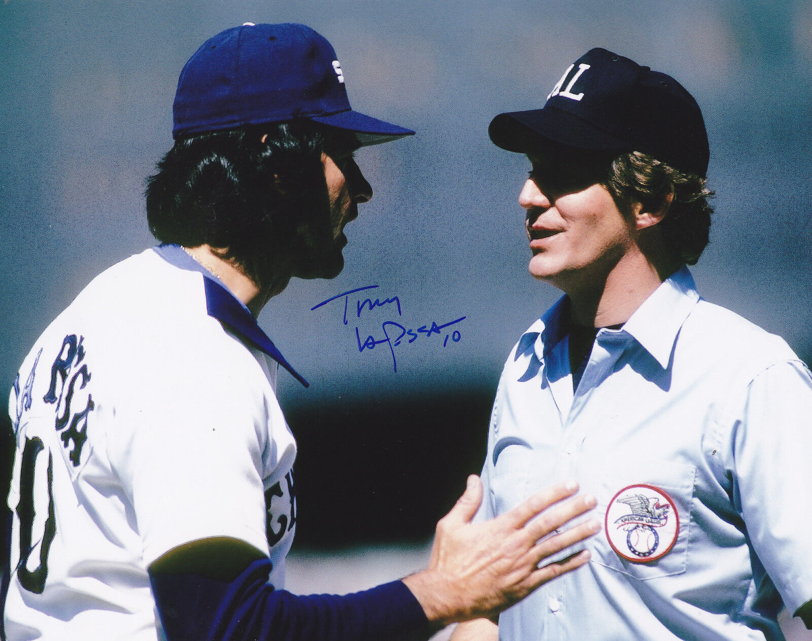
[[[197,539],[253,545],[283,585],[296,442],[276,362],[252,344],[267,337],[244,305],[201,271],[172,245],[120,262],[20,368],[9,641],[161,638],[147,568]]]

